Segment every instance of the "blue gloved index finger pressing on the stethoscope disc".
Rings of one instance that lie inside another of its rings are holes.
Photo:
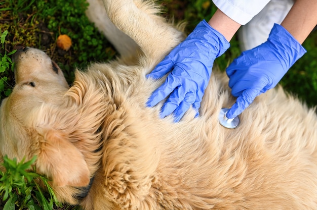
[[[240,115],[253,102],[254,98],[260,94],[260,91],[254,89],[246,89],[236,98],[233,106],[228,110],[226,117],[228,119],[235,118]]]

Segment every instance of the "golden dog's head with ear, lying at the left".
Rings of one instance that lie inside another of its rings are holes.
[[[56,126],[63,121],[59,107],[69,90],[62,71],[34,48],[18,50],[13,60],[16,84],[0,108],[0,161],[3,155],[18,161],[37,155],[37,171],[53,178],[57,186],[87,185],[84,155]]]

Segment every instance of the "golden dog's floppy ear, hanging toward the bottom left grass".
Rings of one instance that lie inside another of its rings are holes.
[[[61,132],[44,130],[36,168],[53,179],[53,185],[81,187],[89,184],[84,155]]]

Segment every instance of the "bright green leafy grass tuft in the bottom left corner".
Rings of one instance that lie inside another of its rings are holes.
[[[45,176],[33,172],[31,165],[35,162],[36,157],[25,162],[22,160],[17,163],[16,159],[10,160],[4,156],[3,166],[5,172],[0,172],[0,195],[2,200],[6,201],[3,206],[4,210],[15,209],[36,209],[50,210],[58,203],[52,188],[48,184]],[[46,188],[46,192],[39,187],[38,181],[41,180]]]

